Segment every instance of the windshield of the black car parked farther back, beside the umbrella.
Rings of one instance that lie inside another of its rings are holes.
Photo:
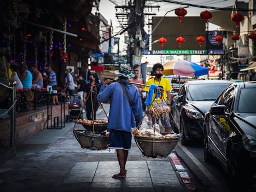
[[[214,101],[229,84],[189,84],[187,100]]]

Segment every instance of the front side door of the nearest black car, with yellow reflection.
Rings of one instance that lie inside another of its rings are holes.
[[[231,134],[230,129],[230,111],[234,100],[235,89],[233,87],[227,88],[217,100],[218,105],[225,105],[225,115],[211,115],[210,118],[210,133],[212,142],[215,144],[215,152],[223,163],[225,163],[225,145],[227,138]]]

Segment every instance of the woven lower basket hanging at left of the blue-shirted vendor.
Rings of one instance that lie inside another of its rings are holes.
[[[89,148],[91,150],[102,150],[109,144],[109,137],[91,135],[84,130],[74,130],[74,136],[80,143],[82,148]]]

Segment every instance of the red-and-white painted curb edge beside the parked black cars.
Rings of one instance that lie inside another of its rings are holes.
[[[168,157],[170,158],[170,160],[172,161],[172,163],[175,166],[175,170],[179,173],[182,182],[186,185],[186,187],[189,190],[196,190],[196,186],[193,184],[191,177],[188,175],[186,168],[183,167],[183,165],[181,164],[179,158],[176,156],[175,153],[171,153],[168,155]]]

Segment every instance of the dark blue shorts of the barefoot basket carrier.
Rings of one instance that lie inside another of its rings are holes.
[[[132,144],[131,132],[110,129],[109,148],[130,150]]]

